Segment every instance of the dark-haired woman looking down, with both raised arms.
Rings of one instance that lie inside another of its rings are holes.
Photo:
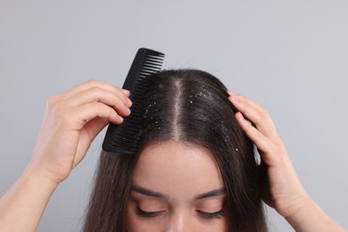
[[[88,81],[47,101],[33,158],[1,199],[0,229],[37,228],[99,131],[128,116],[128,96]],[[210,74],[162,71],[142,105],[138,153],[101,155],[85,231],[267,231],[261,199],[296,231],[344,231],[303,190],[268,113]]]

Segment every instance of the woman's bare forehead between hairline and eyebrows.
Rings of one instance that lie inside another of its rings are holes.
[[[208,149],[173,140],[145,147],[139,155],[132,184],[176,199],[224,186],[219,166]]]

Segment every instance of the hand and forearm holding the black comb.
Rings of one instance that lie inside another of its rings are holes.
[[[48,99],[32,159],[0,199],[0,231],[36,231],[55,187],[99,131],[129,115],[128,96],[127,90],[90,80]]]

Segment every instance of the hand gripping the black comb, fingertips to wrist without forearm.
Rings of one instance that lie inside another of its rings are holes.
[[[46,103],[31,170],[59,184],[85,157],[89,145],[109,123],[129,115],[128,90],[89,80],[51,96]],[[120,117],[122,116],[122,117]]]

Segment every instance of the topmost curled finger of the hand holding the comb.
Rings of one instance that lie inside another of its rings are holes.
[[[101,82],[101,81],[98,81],[95,79],[88,80],[85,83],[82,83],[76,87],[70,88],[68,91],[62,93],[60,95],[60,97],[62,100],[64,100],[64,99],[69,98],[72,95],[76,95],[79,92],[85,91],[85,90],[93,88],[93,87],[100,87],[100,88],[103,88],[105,90],[108,90],[108,91],[114,93],[115,95],[119,95],[120,99],[125,98],[125,101],[128,103],[128,106],[129,107],[131,106],[131,102],[130,102],[130,100],[128,100],[128,97],[129,97],[128,90],[120,89],[120,87],[115,87],[115,86],[112,86],[110,84],[107,84],[107,83],[104,83],[104,82]]]

